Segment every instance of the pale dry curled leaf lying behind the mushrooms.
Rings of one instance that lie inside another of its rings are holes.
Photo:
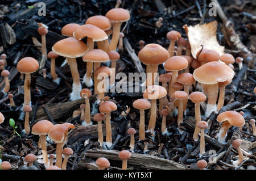
[[[204,49],[213,49],[216,50],[220,56],[224,54],[224,46],[218,44],[216,37],[217,30],[217,21],[196,24],[195,26],[187,26],[185,24],[183,28],[185,29],[189,44],[191,45],[191,53],[194,58],[196,58],[196,53],[202,48],[201,45],[204,45]]]

